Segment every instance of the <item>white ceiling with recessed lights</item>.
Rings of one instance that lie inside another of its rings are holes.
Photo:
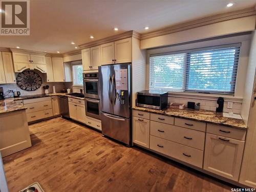
[[[227,8],[226,5],[234,2]],[[30,36],[0,36],[0,47],[66,53],[129,30],[139,33],[254,6],[256,0],[30,0]],[[145,30],[144,27],[150,27]],[[116,32],[114,27],[118,27]],[[71,41],[76,44],[71,45]]]

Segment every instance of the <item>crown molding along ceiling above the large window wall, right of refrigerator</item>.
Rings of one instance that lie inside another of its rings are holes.
[[[247,17],[247,16],[252,16],[252,15],[256,15],[255,7],[246,8],[246,9],[242,9],[242,10],[238,10],[238,11],[232,11],[232,12],[228,12],[228,13],[212,15],[212,16],[201,18],[201,19],[191,20],[190,22],[173,25],[173,26],[170,26],[170,27],[167,27],[164,29],[160,29],[157,31],[143,33],[140,35],[140,40],[152,38],[152,37],[156,37],[156,36],[160,36],[160,35],[175,33],[175,32],[179,32],[179,31],[184,31],[184,30],[188,30],[188,29],[193,29],[196,27],[202,27],[205,25],[215,24],[215,23],[223,22],[225,20]]]

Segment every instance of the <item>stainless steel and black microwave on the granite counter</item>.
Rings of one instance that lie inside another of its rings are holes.
[[[162,110],[167,107],[168,104],[168,92],[160,91],[140,91],[137,92],[137,106],[144,108],[151,108]]]

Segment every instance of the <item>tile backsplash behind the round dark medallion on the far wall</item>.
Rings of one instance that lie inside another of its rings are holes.
[[[72,89],[72,82],[46,82],[46,74],[40,73],[38,71],[36,71],[36,73],[38,73],[40,75],[40,77],[42,78],[42,85],[38,90],[35,91],[25,91],[20,89],[16,83],[10,83],[10,84],[0,84],[0,87],[3,87],[4,89],[4,95],[8,94],[8,90],[13,90],[13,91],[19,91],[20,92],[20,96],[24,96],[24,95],[37,95],[37,94],[44,94],[45,90],[42,88],[43,86],[48,85],[49,86],[49,93],[53,92],[53,86],[55,86],[55,90],[56,92],[60,92],[63,89],[63,86],[65,85],[66,89]],[[17,76],[18,73],[15,73],[15,75]],[[13,97],[13,94],[10,93],[7,97]]]

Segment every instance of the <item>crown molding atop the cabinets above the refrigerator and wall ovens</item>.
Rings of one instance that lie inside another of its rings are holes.
[[[117,35],[113,35],[113,36],[110,36],[110,37],[102,38],[102,39],[99,39],[99,40],[95,40],[95,41],[92,41],[92,42],[87,42],[86,44],[79,45],[78,47],[80,49],[86,49],[86,48],[99,46],[99,45],[102,45],[102,44],[106,44],[108,42],[121,40],[121,39],[129,38],[129,37],[135,37],[137,39],[140,39],[140,35],[141,35],[140,33],[132,30],[132,31],[127,31],[127,32],[120,33],[120,34],[117,34]]]

